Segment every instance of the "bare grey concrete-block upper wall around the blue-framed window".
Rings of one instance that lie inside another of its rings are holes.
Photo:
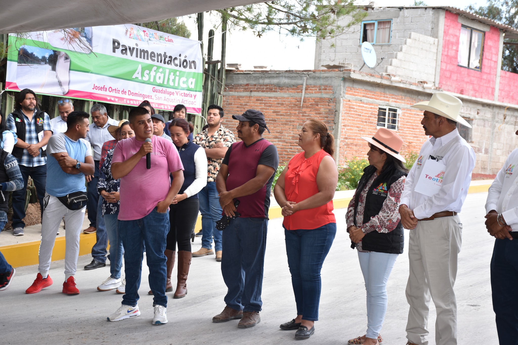
[[[396,53],[401,51],[411,33],[437,38],[437,30],[434,31],[438,21],[437,12],[434,8],[369,8],[364,20],[392,19],[391,43],[373,45],[378,62],[384,57],[376,70],[383,72],[385,66],[390,66],[390,59],[395,58]],[[344,17],[339,21],[339,25],[346,25],[349,21],[349,17]],[[316,45],[314,68],[321,69],[322,65],[337,65],[343,62],[353,64],[355,70],[361,68],[361,27],[361,24],[353,25],[342,35],[319,42]],[[363,70],[369,69],[364,67]]]

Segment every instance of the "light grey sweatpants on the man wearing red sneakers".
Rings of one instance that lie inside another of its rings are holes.
[[[79,234],[83,225],[86,207],[71,211],[56,197],[45,194],[44,211],[41,219],[41,242],[39,244],[38,271],[42,276],[49,273],[52,249],[56,240],[57,229],[65,217],[65,277],[76,274],[79,257]]]

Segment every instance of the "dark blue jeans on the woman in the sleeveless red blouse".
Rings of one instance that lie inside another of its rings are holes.
[[[320,271],[333,244],[336,223],[311,230],[286,230],[286,255],[292,276],[297,315],[303,320],[318,321],[322,280]]]

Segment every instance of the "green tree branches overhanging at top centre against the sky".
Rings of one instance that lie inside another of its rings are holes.
[[[333,38],[361,22],[367,12],[353,0],[279,0],[217,10],[231,27],[257,37],[283,31],[297,37]],[[339,20],[348,17],[345,23]]]

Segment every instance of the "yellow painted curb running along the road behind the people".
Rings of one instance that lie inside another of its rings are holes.
[[[491,185],[470,186],[468,193],[487,192]],[[352,198],[342,198],[333,200],[334,208],[346,208]],[[281,218],[281,208],[278,205],[270,207],[270,219]],[[198,216],[195,231],[202,229],[202,216]],[[79,255],[91,253],[92,247],[96,242],[94,234],[83,234],[79,236]],[[108,247],[109,248],[109,247]],[[39,241],[27,242],[11,246],[0,247],[5,259],[13,267],[36,265],[38,263]],[[52,261],[65,259],[65,236],[57,237],[52,251]]]

